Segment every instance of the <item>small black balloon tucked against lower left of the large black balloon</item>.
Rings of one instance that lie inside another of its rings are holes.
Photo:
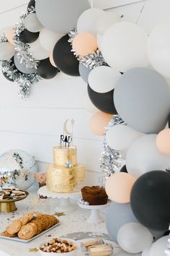
[[[58,69],[50,64],[49,58],[42,59],[42,61],[40,61],[39,67],[37,68],[37,74],[39,74],[40,77],[44,79],[51,79],[55,77],[56,74],[58,74]]]

